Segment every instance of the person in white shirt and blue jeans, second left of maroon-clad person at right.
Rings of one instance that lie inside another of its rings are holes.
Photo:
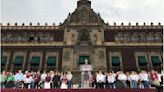
[[[138,88],[137,83],[139,80],[139,75],[136,72],[132,71],[129,78],[130,78],[130,87],[131,88]]]

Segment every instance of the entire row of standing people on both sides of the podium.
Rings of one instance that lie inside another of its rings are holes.
[[[155,70],[140,72],[94,72],[87,76],[92,88],[150,88],[163,85],[163,74]],[[27,89],[51,89],[73,88],[74,76],[71,71],[66,73],[50,72],[29,72],[17,73],[2,71],[0,73],[1,88],[27,88]],[[79,84],[81,85],[81,84]],[[79,86],[80,87],[80,86]]]

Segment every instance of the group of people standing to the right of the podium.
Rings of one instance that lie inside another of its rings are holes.
[[[150,88],[163,85],[163,75],[155,70],[150,72],[104,72],[93,74],[92,87],[95,88]]]

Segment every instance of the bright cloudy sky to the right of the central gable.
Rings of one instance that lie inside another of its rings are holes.
[[[163,0],[104,0],[95,2],[94,8],[109,23],[163,23],[162,2]]]

